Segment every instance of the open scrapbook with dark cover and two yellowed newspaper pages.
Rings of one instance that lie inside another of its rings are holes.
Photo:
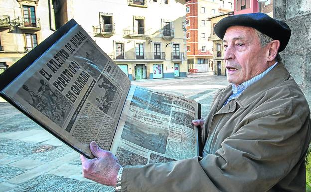
[[[0,95],[88,158],[96,141],[123,165],[199,155],[200,104],[131,85],[73,19],[0,75]]]

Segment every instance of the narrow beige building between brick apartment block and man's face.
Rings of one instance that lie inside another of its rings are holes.
[[[211,25],[211,34],[208,38],[209,41],[213,42],[213,65],[214,65],[214,75],[222,75],[226,76],[226,68],[225,62],[223,59],[223,42],[222,40],[214,33],[214,26],[215,24],[220,21],[221,19],[232,15],[233,12],[223,13],[219,15],[215,15],[212,17],[207,18],[210,21]]]

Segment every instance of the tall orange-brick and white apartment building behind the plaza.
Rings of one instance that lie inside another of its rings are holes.
[[[213,42],[207,17],[233,11],[233,0],[187,0],[187,58],[188,68],[198,72],[213,71]]]

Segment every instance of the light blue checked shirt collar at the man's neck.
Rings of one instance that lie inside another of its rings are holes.
[[[271,71],[271,69],[273,69],[274,66],[276,66],[278,64],[278,62],[274,63],[271,67],[269,67],[268,69],[266,69],[264,72],[260,73],[259,75],[251,78],[248,81],[245,81],[244,83],[242,83],[241,85],[235,86],[234,84],[231,84],[231,88],[232,88],[232,92],[233,94],[227,99],[227,101],[225,102],[225,104],[223,106],[225,106],[229,101],[231,101],[232,99],[237,98],[239,95],[241,95],[241,93],[249,86],[251,86],[252,84],[254,84],[255,82],[257,82],[258,80],[260,80],[261,78],[263,78],[269,71]]]

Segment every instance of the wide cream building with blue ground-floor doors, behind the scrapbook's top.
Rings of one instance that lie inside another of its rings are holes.
[[[54,0],[56,27],[74,18],[131,80],[187,75],[185,0]]]

